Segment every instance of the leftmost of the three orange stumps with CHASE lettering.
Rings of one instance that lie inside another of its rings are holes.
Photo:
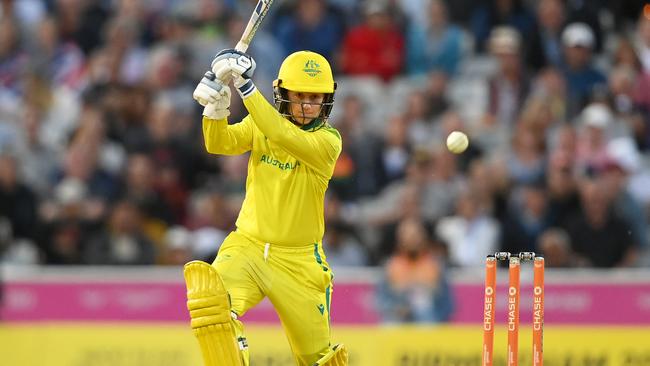
[[[492,366],[494,351],[494,313],[496,308],[497,260],[485,260],[485,300],[483,301],[483,366]]]

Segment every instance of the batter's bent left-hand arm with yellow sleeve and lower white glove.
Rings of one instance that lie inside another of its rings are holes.
[[[250,118],[234,125],[228,124],[230,88],[207,72],[194,90],[203,108],[203,138],[211,154],[238,155],[252,148],[253,128]]]

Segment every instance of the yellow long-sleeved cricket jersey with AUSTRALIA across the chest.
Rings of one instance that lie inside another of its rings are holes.
[[[251,152],[237,231],[283,246],[320,242],[325,190],[341,153],[341,135],[320,120],[313,122],[320,127],[301,129],[256,89],[243,97],[249,115],[240,123],[203,117],[209,153]]]

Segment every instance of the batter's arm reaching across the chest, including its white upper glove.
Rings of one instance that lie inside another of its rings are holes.
[[[327,128],[323,133],[303,131],[294,126],[262,96],[250,79],[255,61],[234,50],[224,50],[212,62],[212,70],[219,79],[234,77],[244,105],[257,128],[270,141],[283,147],[302,163],[330,176],[341,152],[341,136]]]

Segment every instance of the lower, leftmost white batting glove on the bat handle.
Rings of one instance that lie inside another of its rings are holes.
[[[211,119],[223,119],[230,115],[230,88],[208,71],[194,89],[192,96],[205,108],[203,115]]]

